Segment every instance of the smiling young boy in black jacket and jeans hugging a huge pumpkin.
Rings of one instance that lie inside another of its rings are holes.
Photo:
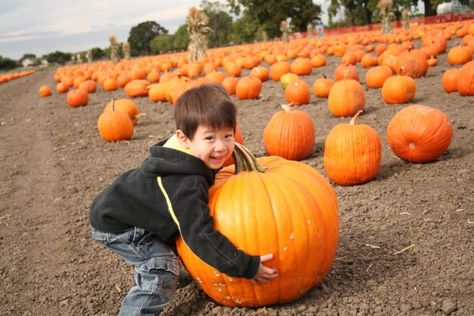
[[[91,235],[135,268],[135,286],[119,315],[155,315],[169,303],[180,277],[175,241],[181,235],[202,260],[233,277],[277,277],[213,227],[208,189],[234,150],[236,108],[220,85],[183,93],[175,105],[176,133],[151,146],[140,168],[119,176],[89,211]],[[183,277],[183,275],[181,276]]]

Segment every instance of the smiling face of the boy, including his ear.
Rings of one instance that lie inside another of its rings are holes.
[[[219,169],[234,151],[234,130],[224,128],[213,130],[199,126],[193,139],[187,138],[181,130],[176,134],[182,146],[201,159],[210,169]]]

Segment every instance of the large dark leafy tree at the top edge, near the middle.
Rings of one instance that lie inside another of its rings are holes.
[[[308,23],[321,20],[321,6],[312,0],[227,0],[231,12],[240,14],[263,26],[268,36],[281,34],[280,23],[291,18],[293,31],[305,32]]]

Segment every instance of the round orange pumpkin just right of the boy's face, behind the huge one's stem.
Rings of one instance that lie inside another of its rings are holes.
[[[314,147],[314,124],[311,116],[300,110],[282,105],[263,131],[263,144],[269,155],[290,160],[307,158]]]

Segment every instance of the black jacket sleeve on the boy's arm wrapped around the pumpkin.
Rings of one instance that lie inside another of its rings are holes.
[[[253,278],[260,264],[259,256],[237,249],[214,229],[209,215],[208,186],[202,182],[182,185],[168,204],[173,220],[189,248],[207,264],[233,277]]]

